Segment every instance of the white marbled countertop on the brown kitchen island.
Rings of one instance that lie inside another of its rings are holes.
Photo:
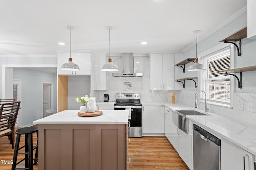
[[[128,124],[128,110],[102,110],[102,115],[78,116],[79,110],[64,110],[34,121],[35,124]]]

